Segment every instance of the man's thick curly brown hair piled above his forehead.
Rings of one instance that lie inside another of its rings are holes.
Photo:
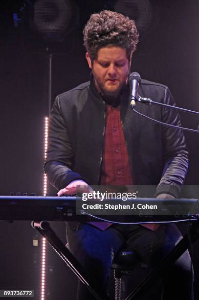
[[[84,46],[91,60],[102,47],[119,46],[126,49],[127,58],[136,49],[139,33],[135,22],[122,14],[103,10],[92,14],[83,30]]]

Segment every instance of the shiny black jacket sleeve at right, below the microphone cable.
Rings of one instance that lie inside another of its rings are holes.
[[[168,87],[165,89],[164,103],[175,105]],[[180,126],[177,110],[162,108],[162,122]],[[188,151],[182,129],[162,126],[162,148],[164,169],[157,186],[156,195],[167,193],[178,197],[188,169]]]

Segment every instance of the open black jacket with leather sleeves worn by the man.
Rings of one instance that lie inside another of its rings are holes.
[[[138,93],[174,104],[168,87],[142,80]],[[136,103],[136,110],[158,121],[180,125],[175,110]],[[121,95],[121,122],[135,185],[158,185],[157,194],[178,196],[188,168],[182,130],[158,125],[130,108],[129,86]],[[83,179],[98,185],[103,155],[106,103],[93,80],[59,95],[52,107],[44,171],[58,190]]]

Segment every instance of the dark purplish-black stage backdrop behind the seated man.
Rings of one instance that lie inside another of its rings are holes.
[[[168,85],[178,106],[199,111],[199,2],[153,0],[150,3],[151,25],[140,34],[132,71]],[[0,2],[0,195],[10,192],[43,195],[48,55],[41,49],[31,50],[22,35],[22,24],[14,26],[13,13],[19,13],[22,4],[23,1]],[[104,4],[106,1],[98,4],[78,1],[80,21],[74,35],[65,39],[67,54],[53,54],[52,99],[89,80],[82,28],[89,14],[103,9]],[[199,125],[199,117],[194,115],[183,113],[181,120],[184,127],[197,129]],[[190,155],[186,184],[198,185],[199,135],[185,132],[185,136]],[[51,189],[50,193],[54,195],[55,191]],[[65,224],[51,225],[66,243]],[[33,238],[39,239],[38,248],[32,246]],[[0,245],[0,289],[35,289],[35,299],[39,299],[41,238],[30,222],[1,221]],[[191,250],[197,282],[199,242]],[[47,253],[47,299],[75,299],[76,278],[50,247]],[[197,284],[195,289],[199,299]]]

